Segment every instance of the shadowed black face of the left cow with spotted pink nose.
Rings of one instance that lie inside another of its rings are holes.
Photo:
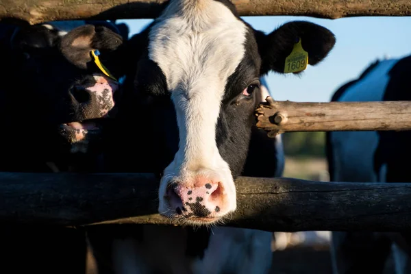
[[[69,145],[99,136],[103,118],[114,114],[119,83],[99,69],[91,53],[100,53],[109,66],[106,61],[122,43],[101,25],[68,33],[49,24],[16,29],[10,47],[18,92],[11,96],[19,119]]]

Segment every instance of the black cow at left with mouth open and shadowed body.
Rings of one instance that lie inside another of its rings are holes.
[[[99,171],[105,128],[121,98],[121,75],[110,60],[125,33],[105,21],[72,27],[4,23],[0,29],[0,103],[6,129],[0,136],[0,171]],[[105,75],[93,58],[110,66],[112,75]],[[0,232],[4,272],[86,270],[84,229],[3,223]]]

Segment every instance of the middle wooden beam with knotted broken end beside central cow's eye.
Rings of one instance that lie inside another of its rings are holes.
[[[256,110],[257,127],[284,132],[411,130],[411,101],[299,103],[274,101]]]

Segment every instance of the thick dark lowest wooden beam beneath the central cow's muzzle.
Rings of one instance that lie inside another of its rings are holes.
[[[239,177],[226,225],[267,231],[411,228],[411,184]],[[0,223],[178,224],[157,214],[150,174],[0,173]]]

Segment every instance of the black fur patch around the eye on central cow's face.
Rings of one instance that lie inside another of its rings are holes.
[[[217,147],[234,177],[242,173],[249,149],[251,127],[255,122],[253,114],[256,95],[244,97],[242,90],[249,84],[258,82],[260,62],[256,40],[250,30],[245,42],[245,56],[227,79],[216,125]]]

